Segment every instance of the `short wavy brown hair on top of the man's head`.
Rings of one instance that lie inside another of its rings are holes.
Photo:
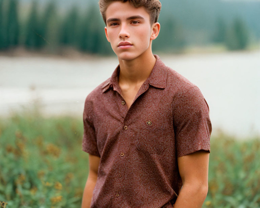
[[[106,10],[110,3],[120,1],[120,2],[129,2],[135,8],[144,6],[146,11],[150,15],[151,25],[158,21],[158,17],[161,11],[161,2],[159,0],[99,0],[99,10],[103,17],[105,24],[106,22]]]

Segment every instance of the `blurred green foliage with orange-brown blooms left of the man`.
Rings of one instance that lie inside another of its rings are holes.
[[[82,122],[37,113],[0,121],[0,199],[7,207],[80,207],[87,179]]]

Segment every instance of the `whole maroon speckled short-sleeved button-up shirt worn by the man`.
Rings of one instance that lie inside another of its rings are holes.
[[[170,208],[182,186],[177,157],[210,152],[202,93],[154,56],[129,109],[118,85],[119,66],[86,98],[82,147],[100,157],[91,208]]]

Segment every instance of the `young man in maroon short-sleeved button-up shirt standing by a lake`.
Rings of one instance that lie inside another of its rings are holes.
[[[152,53],[161,3],[99,5],[119,66],[85,101],[82,146],[89,153],[89,175],[82,207],[202,207],[209,110],[198,87]]]

